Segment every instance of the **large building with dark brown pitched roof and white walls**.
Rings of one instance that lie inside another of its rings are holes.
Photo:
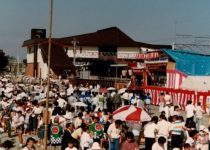
[[[27,48],[26,75],[45,79],[48,39],[32,38],[24,41],[23,47]],[[80,78],[121,77],[123,70],[141,68],[144,60],[159,57],[157,52],[162,48],[171,46],[137,42],[117,27],[56,38],[52,39],[51,74],[55,78],[74,74],[76,66]]]

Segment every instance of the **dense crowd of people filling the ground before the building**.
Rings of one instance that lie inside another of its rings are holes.
[[[11,83],[0,77],[0,132],[8,137],[17,135],[19,148],[33,150],[35,143],[43,148],[46,125],[46,144],[61,150],[137,150],[143,138],[146,150],[209,149],[209,129],[203,125],[205,111],[200,103],[194,106],[188,101],[185,121],[167,92],[160,94],[159,113],[154,114],[150,93],[117,91],[100,85],[75,86],[57,80],[49,87],[47,120],[46,93],[45,84]],[[140,123],[141,127],[134,130],[128,122],[114,119],[112,112],[122,105],[144,109],[151,121]],[[29,138],[23,143],[25,135]],[[9,142],[1,143],[2,147],[11,148]]]

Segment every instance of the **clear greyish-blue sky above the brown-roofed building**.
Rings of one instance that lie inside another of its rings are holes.
[[[50,0],[0,2],[0,49],[25,58],[21,45],[31,28],[48,28]],[[209,0],[54,0],[53,37],[117,26],[139,42],[186,42],[176,34],[210,37],[209,6]]]

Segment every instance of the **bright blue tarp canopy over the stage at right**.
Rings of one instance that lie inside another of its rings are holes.
[[[176,62],[176,69],[191,76],[210,75],[210,56],[191,50],[163,49]]]

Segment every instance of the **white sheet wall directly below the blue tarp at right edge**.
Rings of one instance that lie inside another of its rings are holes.
[[[210,76],[188,76],[183,80],[181,89],[194,91],[210,91]]]

